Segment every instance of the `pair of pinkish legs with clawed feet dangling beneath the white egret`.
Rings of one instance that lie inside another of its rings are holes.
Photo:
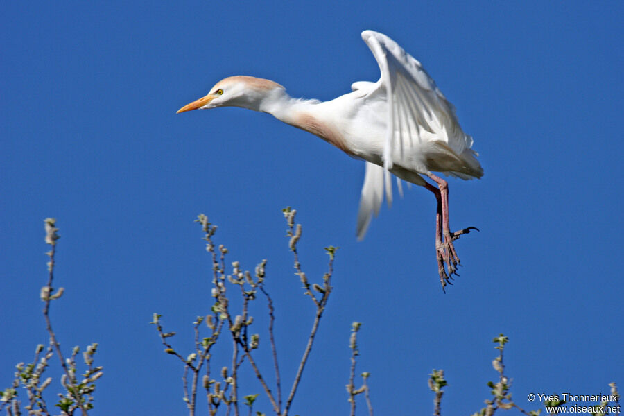
[[[426,189],[435,194],[435,198],[437,199],[435,251],[437,254],[437,268],[440,274],[440,281],[442,282],[442,290],[444,290],[444,286],[447,286],[447,283],[451,283],[453,275],[458,275],[457,266],[460,263],[460,259],[453,245],[453,241],[458,239],[460,235],[468,234],[471,229],[476,228],[468,227],[451,233],[451,222],[449,220],[449,185],[447,181],[433,175],[433,173],[429,173],[427,176],[437,183],[437,187],[439,188],[435,189],[431,184],[426,184],[425,186]],[[440,227],[442,228],[441,230]],[[444,270],[444,263],[447,265],[448,274],[446,270]]]

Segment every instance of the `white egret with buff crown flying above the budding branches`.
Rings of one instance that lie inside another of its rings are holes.
[[[318,101],[293,98],[271,80],[231,76],[178,113],[227,106],[267,112],[363,159],[365,175],[357,220],[360,240],[372,215],[379,214],[384,192],[388,205],[392,204],[391,175],[397,178],[401,194],[401,180],[425,187],[437,200],[435,253],[444,289],[453,275],[458,275],[460,259],[453,241],[476,228],[451,232],[448,184],[433,172],[464,180],[479,178],[483,169],[476,159],[478,153],[472,150],[472,137],[460,127],[455,107],[419,61],[386,35],[363,31],[362,38],[381,69],[376,83],[359,81],[349,94]]]

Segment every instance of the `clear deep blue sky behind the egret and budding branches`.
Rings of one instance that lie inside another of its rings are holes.
[[[313,308],[293,275],[287,205],[304,226],[309,277],[324,272],[322,248],[340,246],[293,414],[348,414],[354,320],[363,322],[358,370],[372,373],[379,415],[431,411],[432,368],[449,381],[444,414],[478,410],[496,376],[491,340],[501,332],[511,339],[505,359],[523,407],[539,408],[526,401],[530,392],[593,395],[624,382],[621,2],[1,9],[2,388],[47,339],[38,295],[42,220],[52,216],[62,235],[56,278],[66,288],[53,305],[58,336],[66,349],[97,341],[105,367],[93,414],[186,413],[180,365],[148,322],[162,313],[184,351],[191,322],[209,310],[209,258],[193,223],[200,212],[219,225],[230,260],[252,270],[268,259],[290,383]],[[451,227],[481,232],[456,243],[464,267],[446,295],[431,193],[412,187],[357,243],[362,162],[267,114],[175,114],[231,75],[321,100],[375,81],[365,29],[424,64],[481,155],[482,180],[449,180]]]

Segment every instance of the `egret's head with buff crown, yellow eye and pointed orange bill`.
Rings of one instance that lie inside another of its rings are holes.
[[[277,91],[284,91],[284,87],[271,80],[230,76],[216,83],[207,96],[184,105],[177,112],[215,107],[243,107],[259,111],[262,101]]]

